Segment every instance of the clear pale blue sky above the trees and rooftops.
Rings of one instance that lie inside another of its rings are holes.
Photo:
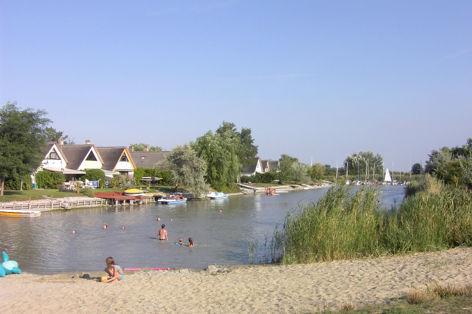
[[[472,1],[0,0],[0,105],[77,144],[166,150],[223,121],[259,156],[409,171],[472,137]]]

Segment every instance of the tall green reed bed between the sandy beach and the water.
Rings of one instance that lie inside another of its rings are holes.
[[[353,193],[333,186],[318,202],[287,215],[272,237],[272,260],[323,262],[470,246],[471,192],[438,184],[392,209],[379,206],[376,187]]]

